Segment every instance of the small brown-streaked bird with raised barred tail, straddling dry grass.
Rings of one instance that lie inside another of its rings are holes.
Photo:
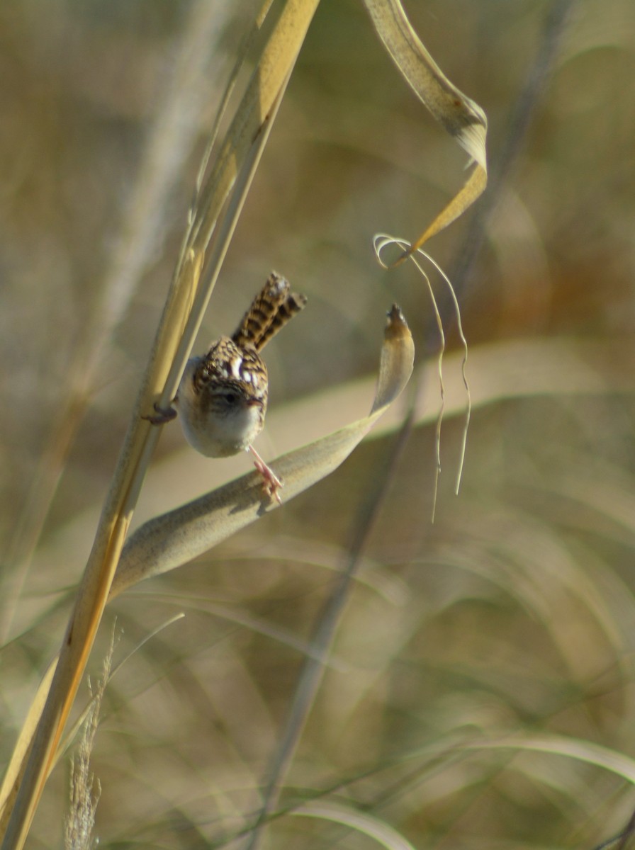
[[[272,272],[233,335],[220,337],[207,354],[188,360],[173,402],[193,448],[208,457],[251,451],[265,493],[279,503],[282,482],[252,446],[263,429],[269,396],[267,367],[259,352],[306,301]],[[176,415],[173,407],[156,407],[156,415],[145,418],[158,425]]]

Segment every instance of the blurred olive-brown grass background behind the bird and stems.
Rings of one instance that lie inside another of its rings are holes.
[[[256,5],[0,8],[0,530],[2,592],[12,600],[0,656],[2,760],[63,633],[213,111]],[[405,3],[434,59],[485,109],[495,176],[520,94],[555,37],[549,15],[566,5]],[[115,615],[124,630],[115,660],[174,613],[186,617],[145,644],[106,690],[93,765],[102,846],[216,847],[249,822],[333,570],[362,532],[360,572],[281,805],[345,802],[415,847],[593,847],[626,824],[630,785],[583,759],[590,745],[635,756],[634,45],[631,0],[570,3],[528,131],[502,183],[492,181],[490,215],[480,201],[428,246],[456,273],[473,354],[491,350],[493,371],[521,375],[532,363],[518,362],[512,343],[564,340],[595,377],[588,393],[554,395],[536,381],[529,396],[479,406],[458,498],[462,422],[447,418],[434,524],[434,424],[426,424],[414,428],[388,480],[391,436],[362,445],[331,479],[199,563],[117,600],[93,676]],[[157,177],[149,139],[175,69],[196,49],[205,72],[191,74],[177,99],[176,150],[156,159],[174,169],[151,210],[157,238],[100,349],[33,569],[14,599],[11,555],[23,554],[33,481],[70,376],[116,301],[107,289],[109,275],[120,279],[113,257],[139,243],[130,199],[139,181]],[[287,402],[314,394],[328,407],[334,385],[369,375],[393,301],[420,362],[434,356],[422,281],[414,269],[379,269],[371,237],[414,238],[462,184],[464,162],[401,81],[360,4],[322,0],[199,348],[233,329],[274,268],[309,307],[268,349],[272,416],[284,420]],[[479,215],[481,244],[466,266]],[[445,323],[454,347],[449,312]],[[555,375],[558,365],[554,358]],[[483,376],[468,364],[468,377]],[[325,420],[331,415],[325,410]],[[288,448],[267,434],[258,447],[267,457]],[[245,458],[230,466],[193,456],[178,427],[165,430],[156,461],[169,478],[146,498],[162,509],[175,493],[188,498],[211,485],[203,479],[248,467]],[[364,528],[369,494],[383,488]],[[556,734],[579,741],[579,758],[487,745],[513,736],[530,746]],[[31,847],[58,843],[66,782],[60,766]],[[264,846],[371,844],[287,816]]]

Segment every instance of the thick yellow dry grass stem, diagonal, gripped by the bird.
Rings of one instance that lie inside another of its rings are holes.
[[[259,151],[268,138],[268,133],[263,131],[270,128],[275,116],[275,105],[280,103],[315,5],[316,0],[312,3],[287,4],[264,47],[257,71],[247,85],[241,105],[220,146],[213,171],[197,199],[196,211],[184,240],[181,259],[156,333],[150,363],[77,595],[77,605],[62,643],[48,700],[37,731],[25,728],[20,736],[20,740],[31,740],[35,734],[20,781],[20,790],[11,809],[8,800],[15,785],[11,789],[7,788],[6,796],[3,797],[5,817],[11,811],[3,847],[18,850],[26,841],[31,819],[48,771],[54,763],[55,751],[110,592],[145,469],[158,439],[156,429],[152,429],[140,416],[151,409],[154,400],[164,395],[172,398],[176,390],[201,322],[202,311],[207,306],[218,275],[218,269],[208,273],[207,292],[201,292],[199,284],[207,245],[236,178],[239,178],[239,192],[243,195],[247,192]],[[247,169],[249,178],[241,179],[243,167]],[[237,215],[240,208],[241,200],[237,198],[230,204],[229,210]],[[227,239],[234,226],[235,223],[225,225],[224,235]],[[224,250],[226,247],[221,247],[217,252],[218,264],[224,257]],[[180,357],[179,352],[182,352]],[[23,751],[28,749],[28,745],[19,744],[19,747]]]

